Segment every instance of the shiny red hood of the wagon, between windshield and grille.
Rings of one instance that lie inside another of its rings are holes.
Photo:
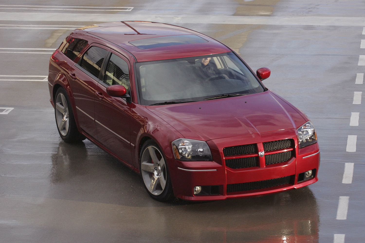
[[[185,138],[203,141],[296,129],[306,122],[304,114],[270,91],[147,108]]]

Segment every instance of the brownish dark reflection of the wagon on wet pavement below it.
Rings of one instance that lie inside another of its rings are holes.
[[[108,237],[128,236],[135,242],[156,237],[160,242],[318,242],[319,212],[309,187],[249,199],[161,203],[145,193],[137,174],[88,140],[60,142],[51,160],[49,197],[123,211],[92,213],[95,222],[106,224],[100,233]],[[85,222],[85,228],[90,224]]]

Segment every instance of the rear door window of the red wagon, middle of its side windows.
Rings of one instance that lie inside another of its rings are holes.
[[[99,77],[101,64],[103,64],[107,54],[107,50],[93,46],[82,56],[81,67],[91,72],[95,77]]]

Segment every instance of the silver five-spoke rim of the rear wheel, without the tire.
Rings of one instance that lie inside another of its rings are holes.
[[[55,103],[56,122],[59,132],[66,136],[69,131],[69,110],[64,94],[58,93]]]

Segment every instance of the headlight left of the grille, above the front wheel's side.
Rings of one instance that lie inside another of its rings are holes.
[[[177,160],[181,161],[211,161],[212,154],[204,141],[178,138],[172,142],[172,149]]]

